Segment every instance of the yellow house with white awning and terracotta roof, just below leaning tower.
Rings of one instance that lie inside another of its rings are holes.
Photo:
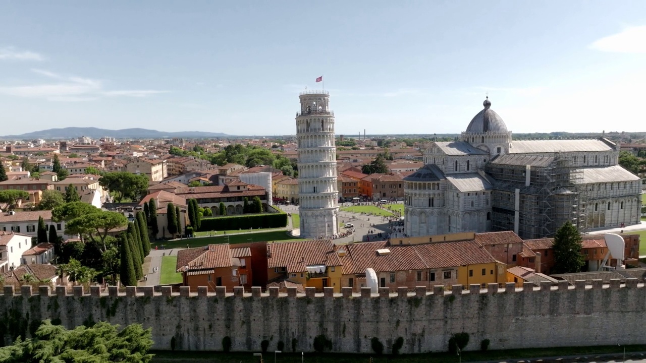
[[[342,267],[331,240],[267,244],[268,282],[289,281],[304,287],[333,287],[340,292]]]

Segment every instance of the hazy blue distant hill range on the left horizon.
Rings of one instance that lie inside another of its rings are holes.
[[[202,132],[202,131],[181,131],[181,132],[163,132],[158,130],[147,129],[123,129],[107,130],[96,127],[65,127],[64,129],[49,129],[28,132],[21,135],[0,136],[2,139],[25,140],[25,139],[70,139],[87,136],[92,139],[103,138],[104,136],[119,139],[160,139],[160,138],[220,138],[229,136],[222,132]]]

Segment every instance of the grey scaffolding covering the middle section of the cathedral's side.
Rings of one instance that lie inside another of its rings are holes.
[[[497,158],[486,171],[494,178],[492,228],[526,239],[554,236],[568,220],[587,232],[583,172],[556,150],[547,156]]]

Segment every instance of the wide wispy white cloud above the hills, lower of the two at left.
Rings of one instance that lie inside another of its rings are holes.
[[[163,90],[105,90],[99,79],[61,76],[48,70],[32,68],[32,72],[47,78],[57,79],[56,83],[43,83],[16,87],[1,87],[0,94],[24,98],[45,98],[49,101],[94,101],[105,96],[143,98],[165,93]]]

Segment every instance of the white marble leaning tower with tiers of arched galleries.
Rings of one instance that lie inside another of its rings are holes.
[[[329,92],[301,92],[296,114],[300,236],[318,238],[339,231],[337,148]]]

